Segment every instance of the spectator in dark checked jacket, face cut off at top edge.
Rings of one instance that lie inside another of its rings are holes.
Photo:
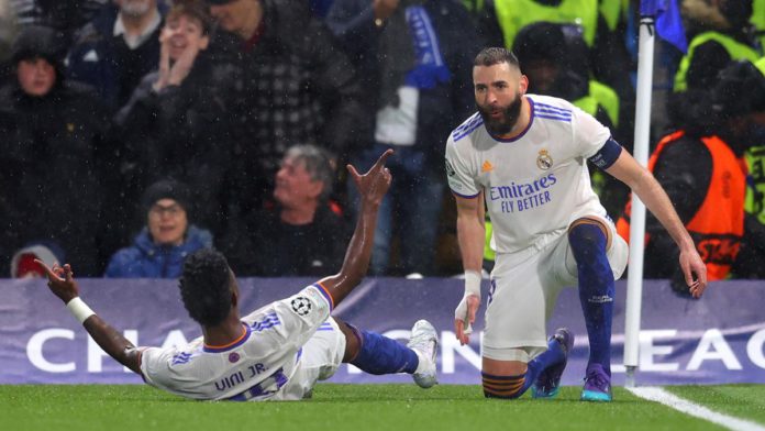
[[[232,195],[242,217],[262,206],[285,151],[319,145],[341,161],[369,121],[354,67],[306,1],[208,0],[218,20],[217,60],[235,65],[241,90]],[[248,200],[243,200],[247,197]],[[234,214],[234,217],[236,217]]]

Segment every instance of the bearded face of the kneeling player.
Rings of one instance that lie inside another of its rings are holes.
[[[475,66],[473,85],[484,124],[495,135],[508,134],[518,123],[528,88],[526,78],[507,63]]]

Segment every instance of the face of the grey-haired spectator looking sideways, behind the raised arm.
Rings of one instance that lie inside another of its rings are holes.
[[[301,208],[315,201],[322,188],[322,181],[311,179],[302,161],[286,157],[276,173],[274,199],[284,208]]]

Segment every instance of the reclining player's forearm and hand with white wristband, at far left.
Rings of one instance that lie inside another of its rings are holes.
[[[117,362],[134,373],[141,374],[141,352],[80,299],[79,287],[74,279],[71,266],[66,264],[60,267],[55,264],[53,268],[49,268],[42,261],[35,262],[45,270],[51,291],[66,303],[66,308],[82,323],[96,343]]]

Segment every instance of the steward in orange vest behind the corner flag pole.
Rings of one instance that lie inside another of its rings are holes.
[[[707,264],[708,279],[725,278],[744,232],[746,174],[741,159],[718,136],[692,139],[677,131],[658,143],[648,170],[676,202],[677,213]],[[631,206],[632,199],[617,222],[617,231],[628,242]],[[652,224],[657,224],[655,219],[646,223],[645,277],[669,278],[678,251],[667,235],[652,236]]]

